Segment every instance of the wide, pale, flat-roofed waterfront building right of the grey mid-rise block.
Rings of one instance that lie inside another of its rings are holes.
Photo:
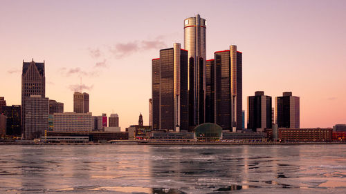
[[[92,131],[93,117],[91,113],[54,113],[53,131]]]

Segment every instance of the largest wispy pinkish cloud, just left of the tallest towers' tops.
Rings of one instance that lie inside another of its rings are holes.
[[[116,43],[113,46],[109,46],[109,52],[116,58],[122,58],[125,55],[131,55],[134,52],[151,49],[165,48],[166,44],[162,41],[161,37],[156,37],[154,40],[143,41],[130,41],[127,43]]]

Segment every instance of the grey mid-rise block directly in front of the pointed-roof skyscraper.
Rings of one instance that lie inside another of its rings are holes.
[[[44,135],[44,130],[48,129],[48,98],[30,95],[25,98],[24,104],[24,138],[39,138]]]

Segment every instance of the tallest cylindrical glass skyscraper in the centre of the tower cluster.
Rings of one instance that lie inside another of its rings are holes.
[[[189,126],[204,122],[206,98],[206,19],[199,14],[184,20],[184,48],[188,50]]]

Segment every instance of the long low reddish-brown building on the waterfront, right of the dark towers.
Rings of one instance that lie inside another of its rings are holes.
[[[287,142],[331,142],[332,128],[279,128],[278,137]]]

